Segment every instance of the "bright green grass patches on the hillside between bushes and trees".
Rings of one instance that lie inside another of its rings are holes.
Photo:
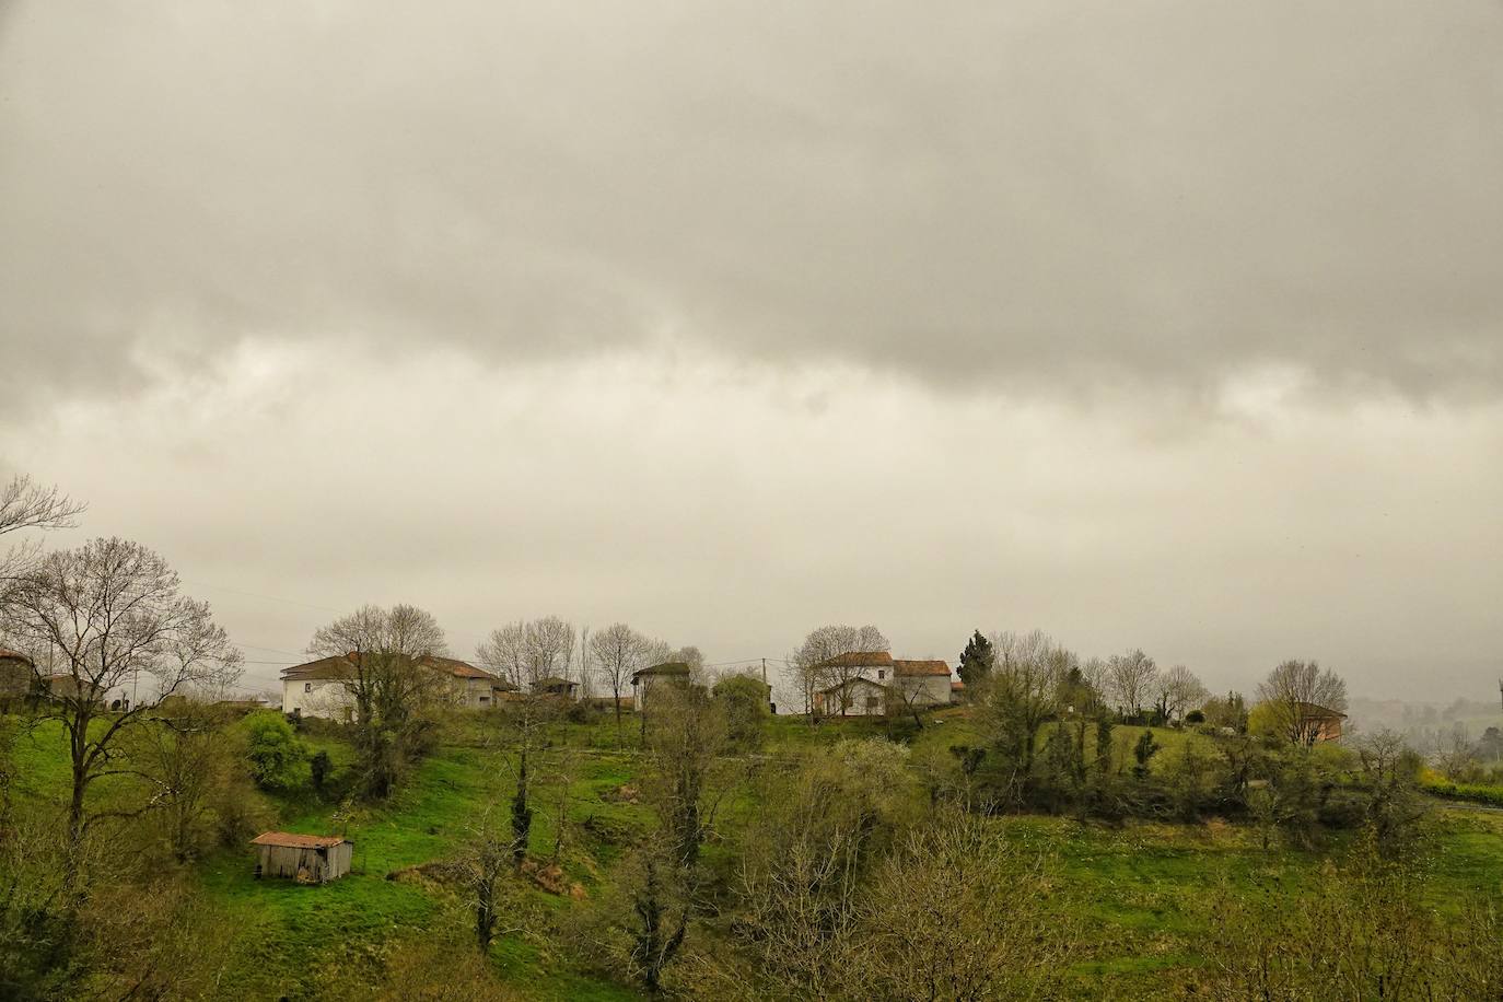
[[[885,736],[881,721],[843,721],[810,729],[801,721],[771,726],[767,754],[773,760],[830,744],[842,736]],[[1118,729],[1120,754],[1127,754],[1141,729]],[[355,868],[326,886],[298,886],[253,879],[253,853],[228,850],[192,867],[218,916],[233,922],[233,997],[320,997],[332,985],[344,988],[377,979],[394,952],[442,943],[455,954],[473,952],[461,897],[413,868],[443,861],[463,844],[469,828],[493,804],[513,792],[505,756],[484,747],[472,723],[412,774],[401,793],[382,808],[347,810],[313,795],[269,798],[275,823],[298,832],[343,831],[356,843]],[[945,712],[911,738],[915,757],[975,741],[962,714]],[[1166,759],[1186,741],[1180,732],[1156,732]],[[528,931],[508,934],[488,961],[519,999],[630,999],[637,990],[610,976],[589,973],[573,958],[556,931],[579,906],[609,894],[622,847],[652,825],[646,805],[633,796],[640,762],[633,748],[616,748],[606,721],[571,726],[559,741],[576,748],[576,774],[568,786],[568,840],[561,856],[571,894],[552,894],[528,883],[517,889],[516,909]],[[628,732],[630,738],[630,732]],[[314,739],[340,768],[350,760],[337,738]],[[39,727],[18,742],[23,801],[27,810],[56,810],[66,789],[62,733]],[[107,795],[104,792],[102,795]],[[748,811],[745,799],[721,814],[726,841]],[[1198,825],[1129,822],[1121,826],[1081,823],[1061,817],[996,817],[992,825],[1018,844],[1043,853],[1051,894],[1076,919],[1069,951],[1069,987],[1078,997],[1174,997],[1196,984],[1201,945],[1214,931],[1211,897],[1281,894],[1299,897],[1320,889],[1326,852],[1279,849],[1266,852],[1257,835],[1219,820]],[[1429,862],[1435,904],[1444,907],[1465,888],[1497,889],[1503,882],[1503,814],[1450,811],[1438,825]],[[555,846],[552,807],[540,807],[532,829],[532,853],[550,858]],[[1339,849],[1339,846],[1336,846]]]

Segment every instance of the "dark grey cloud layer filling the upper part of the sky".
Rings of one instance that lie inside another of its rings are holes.
[[[1503,388],[1503,8],[21,3],[0,344]]]

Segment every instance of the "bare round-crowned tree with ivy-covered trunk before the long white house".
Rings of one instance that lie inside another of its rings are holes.
[[[346,688],[355,703],[356,745],[365,792],[386,796],[406,760],[449,696],[446,679],[425,661],[446,650],[443,629],[416,605],[364,605],[313,635],[308,652],[350,662]]]

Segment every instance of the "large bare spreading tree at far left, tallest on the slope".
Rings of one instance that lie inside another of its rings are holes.
[[[132,772],[117,760],[122,736],[161,700],[239,672],[239,652],[207,602],[183,596],[179,586],[177,574],[146,547],[95,539],[41,557],[11,589],[9,631],[33,649],[57,652],[66,669],[39,688],[48,693],[44,715],[68,730],[68,840],[75,850],[96,822],[144,810],[89,808],[95,781]],[[135,688],[143,675],[152,687],[146,699],[122,703],[120,712],[105,709],[111,690]]]

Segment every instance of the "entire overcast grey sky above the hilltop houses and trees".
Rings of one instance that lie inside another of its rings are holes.
[[[362,602],[1503,670],[1503,3],[0,6],[0,473]]]

